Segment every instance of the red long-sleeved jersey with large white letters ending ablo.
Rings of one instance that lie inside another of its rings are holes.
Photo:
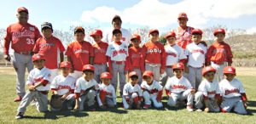
[[[146,42],[142,48],[141,70],[145,70],[145,62],[160,64],[161,69],[166,68],[166,50],[160,42]]]

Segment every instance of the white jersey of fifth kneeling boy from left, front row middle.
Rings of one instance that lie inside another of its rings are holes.
[[[143,96],[142,88],[138,84],[135,84],[134,86],[132,86],[131,82],[127,82],[123,89],[123,95],[128,96],[128,95],[131,95],[132,93],[137,93],[139,96]]]

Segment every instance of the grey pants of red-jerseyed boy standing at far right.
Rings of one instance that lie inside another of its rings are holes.
[[[211,66],[212,68],[214,68],[216,70],[215,76],[214,76],[214,80],[220,82],[221,80],[224,79],[224,67],[227,66],[227,62],[224,62],[223,65],[217,65],[214,62],[211,62]]]

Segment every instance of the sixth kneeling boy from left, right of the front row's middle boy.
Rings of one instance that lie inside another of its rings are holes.
[[[143,109],[148,109],[153,101],[155,108],[163,107],[161,102],[163,87],[159,82],[154,80],[154,73],[150,70],[146,70],[143,73],[143,83],[141,85],[143,89],[143,99],[145,100]]]

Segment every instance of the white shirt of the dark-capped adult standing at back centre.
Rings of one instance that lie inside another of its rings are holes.
[[[121,28],[120,31],[122,32],[122,36],[123,36],[121,42],[125,42],[127,45],[129,45],[131,43],[131,32],[124,28]],[[112,37],[113,37],[112,31],[109,31],[109,33],[105,37],[105,42],[108,42],[108,44],[113,42]]]

